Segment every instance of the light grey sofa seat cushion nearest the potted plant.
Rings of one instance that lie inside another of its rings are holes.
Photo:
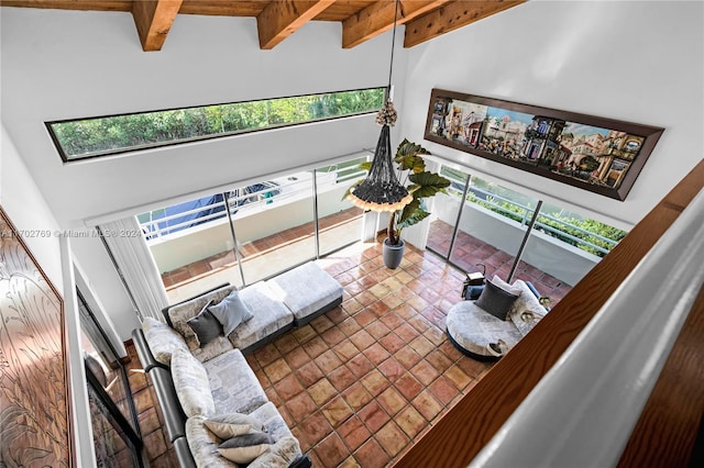
[[[342,297],[342,286],[314,261],[277,275],[266,283],[297,320]]]

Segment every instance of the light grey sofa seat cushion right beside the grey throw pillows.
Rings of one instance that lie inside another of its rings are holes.
[[[240,297],[254,312],[254,316],[229,335],[230,343],[235,348],[246,349],[294,322],[294,315],[288,308],[263,281],[248,286],[240,291]]]

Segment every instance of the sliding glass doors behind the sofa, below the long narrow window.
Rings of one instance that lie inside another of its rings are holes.
[[[273,277],[361,238],[344,199],[366,151],[311,170],[250,181],[138,216],[175,303],[223,283]]]

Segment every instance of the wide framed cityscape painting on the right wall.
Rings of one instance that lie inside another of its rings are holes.
[[[433,89],[425,138],[625,200],[663,129]]]

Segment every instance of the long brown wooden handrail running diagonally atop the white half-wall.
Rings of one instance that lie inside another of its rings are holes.
[[[702,187],[704,160],[395,466],[466,467]]]

